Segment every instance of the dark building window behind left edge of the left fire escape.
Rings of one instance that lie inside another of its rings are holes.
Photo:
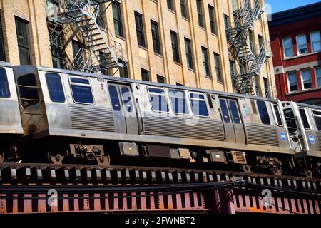
[[[51,33],[51,56],[52,56],[52,65],[54,68],[63,68],[63,48],[61,36],[55,31],[49,31]]]

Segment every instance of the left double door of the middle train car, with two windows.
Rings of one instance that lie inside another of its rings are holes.
[[[133,105],[131,87],[108,83],[115,119],[115,132],[123,134],[138,134],[136,110]]]

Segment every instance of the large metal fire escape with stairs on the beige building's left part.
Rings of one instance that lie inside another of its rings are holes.
[[[101,4],[108,3],[110,6],[113,1],[116,0],[57,1],[57,16],[51,18],[51,21],[56,23],[56,27],[62,26],[63,28],[58,36],[68,28],[76,29],[74,31],[79,31],[83,36],[83,47],[73,53],[71,61],[64,63],[65,68],[98,73],[125,66],[121,43],[115,41],[103,21],[103,13],[106,10],[101,11]],[[51,38],[51,43],[54,41]]]

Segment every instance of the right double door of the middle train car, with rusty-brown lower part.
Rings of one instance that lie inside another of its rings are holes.
[[[220,109],[227,142],[245,144],[244,126],[237,100],[220,98]]]

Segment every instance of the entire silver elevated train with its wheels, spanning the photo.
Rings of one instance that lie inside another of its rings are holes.
[[[39,66],[0,64],[0,134],[0,162],[321,170],[320,107]]]

